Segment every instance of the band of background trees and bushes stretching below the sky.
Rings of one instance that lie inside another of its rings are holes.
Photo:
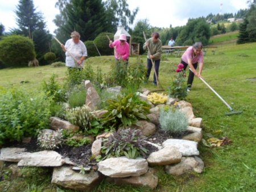
[[[174,37],[176,45],[191,45],[196,41],[201,41],[204,45],[207,45],[211,35],[224,34],[228,31],[238,30],[238,28],[240,29],[238,43],[256,41],[255,0],[250,3],[248,10],[239,10],[235,15],[209,14],[205,18],[189,19],[185,26],[172,27],[170,25],[168,28],[151,26],[147,19],[142,19],[131,29],[130,26],[134,23],[139,8],[130,10],[125,0],[58,0],[56,7],[60,10],[60,14],[56,15],[53,20],[57,26],[55,30],[56,37],[64,43],[70,38],[69,35],[72,31],[79,31],[81,40],[85,42],[89,49],[90,56],[98,55],[95,48],[97,42],[103,55],[112,54],[111,51],[106,51],[108,49],[106,48],[108,39],[106,39],[104,33],[113,36],[117,26],[125,27],[131,34],[133,43],[140,44],[144,43],[143,31],[147,37],[151,37],[152,32],[158,31],[163,44],[167,44],[170,37]],[[35,57],[40,65],[48,64],[44,60],[44,55],[48,52],[54,52],[57,60],[64,60],[63,51],[59,44],[53,40],[52,35],[46,28],[42,12],[36,11],[32,0],[19,0],[15,14],[18,27],[13,28],[9,33],[3,34],[5,26],[0,23],[0,48],[1,41],[4,40],[3,36],[22,35],[28,37],[34,44]],[[240,27],[236,23],[231,23],[229,27],[225,27],[223,23],[214,24],[233,16],[244,18]],[[106,45],[101,45],[102,42]],[[11,49],[11,46],[9,48]],[[7,54],[8,51],[5,53]],[[142,49],[140,53],[143,53]],[[0,60],[3,62],[2,57],[0,53]]]

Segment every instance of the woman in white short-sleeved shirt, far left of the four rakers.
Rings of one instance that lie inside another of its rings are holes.
[[[87,57],[87,49],[85,44],[80,40],[79,32],[73,31],[71,37],[72,39],[67,40],[65,45],[61,45],[66,55],[66,66],[68,68],[82,69],[84,60]]]

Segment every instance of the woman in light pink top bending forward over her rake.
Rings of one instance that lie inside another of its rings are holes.
[[[194,76],[201,77],[201,73],[204,68],[204,53],[202,51],[203,44],[201,42],[196,42],[193,46],[187,48],[187,50],[183,53],[181,57],[181,63],[184,65],[184,69],[189,66],[191,70],[189,70],[188,75],[188,91],[191,90],[192,82],[194,80]],[[199,64],[199,72],[196,71],[197,65]]]

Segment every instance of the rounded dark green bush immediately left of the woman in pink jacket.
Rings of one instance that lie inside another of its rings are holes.
[[[103,32],[94,39],[94,43],[101,55],[114,55],[114,49],[109,47],[109,39],[106,35],[108,35],[111,40],[114,40],[114,34]]]

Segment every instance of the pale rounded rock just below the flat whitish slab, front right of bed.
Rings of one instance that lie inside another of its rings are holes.
[[[178,148],[167,145],[163,149],[151,153],[147,162],[150,166],[176,164],[181,161],[181,157]]]

